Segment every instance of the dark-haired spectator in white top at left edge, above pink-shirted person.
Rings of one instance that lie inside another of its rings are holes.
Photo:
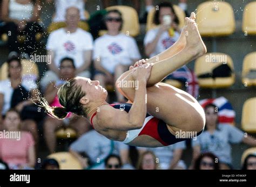
[[[18,57],[12,57],[8,61],[8,79],[0,81],[0,130],[3,129],[1,125],[2,116],[6,112],[15,107],[15,109],[22,114],[25,114],[26,109],[33,106],[29,97],[36,102],[37,84],[28,78],[22,77],[22,64]],[[37,112],[38,113],[38,112]],[[23,118],[23,116],[22,116]],[[21,129],[29,131],[37,141],[37,125],[31,115],[29,119],[23,120]]]

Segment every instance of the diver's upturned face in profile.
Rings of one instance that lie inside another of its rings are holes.
[[[99,85],[99,81],[92,81],[90,78],[85,77],[76,77],[76,81],[78,85],[82,85],[85,97],[89,99],[90,102],[98,102],[106,99],[107,91]]]

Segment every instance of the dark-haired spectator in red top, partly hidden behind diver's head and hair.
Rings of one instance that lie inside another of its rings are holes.
[[[50,106],[61,106],[57,96],[58,88],[60,88],[66,81],[75,77],[75,71],[76,68],[73,59],[65,57],[60,61],[59,79],[53,84],[48,84],[45,91],[45,99],[50,103]],[[56,148],[55,131],[62,126],[70,126],[74,128],[78,136],[80,136],[86,131],[89,131],[91,125],[86,118],[72,113],[69,113],[65,120],[58,120],[50,116],[46,117],[44,121],[44,137],[50,153],[55,152]]]

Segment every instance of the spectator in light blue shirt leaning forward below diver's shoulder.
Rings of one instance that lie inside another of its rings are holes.
[[[77,157],[85,169],[104,169],[104,161],[111,154],[120,155],[123,164],[128,164],[129,146],[124,143],[113,141],[91,130],[80,136],[70,146],[70,153]],[[81,154],[89,156],[91,166],[87,165],[88,159]]]

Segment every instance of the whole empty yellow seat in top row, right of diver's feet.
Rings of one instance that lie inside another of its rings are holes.
[[[197,7],[198,30],[203,37],[230,35],[235,31],[233,8],[223,1],[207,1]]]

